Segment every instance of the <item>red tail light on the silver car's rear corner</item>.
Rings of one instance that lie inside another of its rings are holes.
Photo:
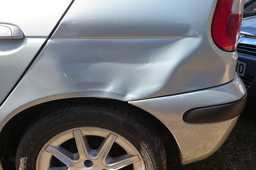
[[[218,0],[212,21],[212,38],[224,51],[235,51],[241,30],[244,0]]]

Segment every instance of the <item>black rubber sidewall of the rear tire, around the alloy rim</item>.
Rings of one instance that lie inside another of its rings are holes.
[[[103,128],[123,136],[140,152],[147,170],[161,169],[158,167],[161,166],[158,164],[160,161],[158,148],[144,129],[126,118],[95,111],[63,113],[38,123],[38,126],[33,127],[33,130],[26,134],[19,148],[20,151],[17,152],[16,160],[26,158],[25,169],[35,170],[38,154],[49,139],[63,131],[79,127]]]

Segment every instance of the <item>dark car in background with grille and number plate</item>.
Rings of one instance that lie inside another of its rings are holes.
[[[236,71],[242,78],[248,95],[248,102],[256,100],[256,16],[243,19]]]

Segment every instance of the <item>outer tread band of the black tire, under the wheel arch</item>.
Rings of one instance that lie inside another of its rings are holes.
[[[88,100],[87,98],[74,98],[71,100],[66,100],[65,102],[56,103],[51,107],[43,109],[41,113],[30,123],[19,141],[16,152],[16,169],[19,169],[20,155],[22,155],[24,152],[24,147],[22,147],[24,142],[27,141],[30,134],[35,131],[39,125],[47,122],[49,119],[53,119],[56,116],[80,111],[81,113],[82,111],[95,111],[99,113],[104,112],[132,122],[137,128],[144,131],[145,134],[147,134],[147,136],[154,142],[159,153],[159,158],[162,162],[162,170],[167,169],[166,151],[163,140],[158,127],[153,126],[154,122],[152,120],[143,117],[142,114],[137,113],[138,110],[134,110],[133,108],[130,108],[122,103],[113,103],[102,99]],[[74,119],[74,115],[73,118],[71,117],[70,119]]]

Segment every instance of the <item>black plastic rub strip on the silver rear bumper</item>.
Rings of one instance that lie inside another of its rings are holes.
[[[246,98],[247,93],[234,102],[190,109],[184,113],[183,120],[187,123],[211,123],[235,118],[242,113]]]

